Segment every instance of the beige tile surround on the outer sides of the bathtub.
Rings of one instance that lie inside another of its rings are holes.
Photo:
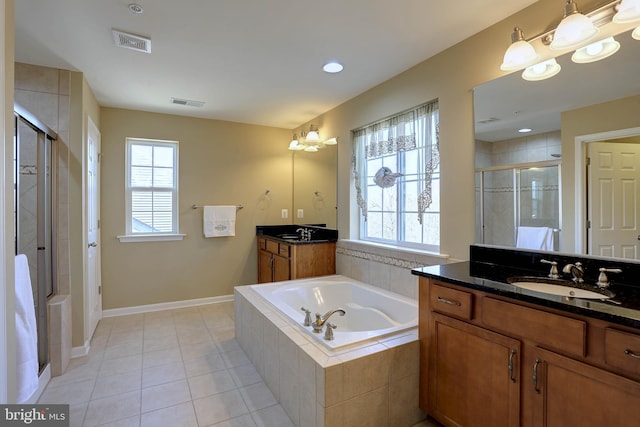
[[[250,286],[235,288],[236,339],[296,426],[411,426],[418,408],[417,328],[328,350]]]

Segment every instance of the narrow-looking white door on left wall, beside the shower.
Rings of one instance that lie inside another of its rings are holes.
[[[102,318],[100,268],[100,132],[88,120],[87,137],[87,337],[90,339]]]

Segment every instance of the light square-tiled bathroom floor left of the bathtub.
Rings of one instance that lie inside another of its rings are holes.
[[[293,427],[234,332],[233,303],[103,319],[39,403],[74,427]]]

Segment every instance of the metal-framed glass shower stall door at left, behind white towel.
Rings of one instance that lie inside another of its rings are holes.
[[[47,300],[56,291],[55,162],[57,135],[37,117],[14,105],[15,253],[29,260],[38,331],[38,362],[49,361]]]

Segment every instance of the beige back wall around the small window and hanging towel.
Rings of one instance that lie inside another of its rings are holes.
[[[257,281],[255,227],[291,221],[291,133],[285,129],[103,108],[101,110],[103,308],[231,295]],[[182,241],[121,243],[125,138],[179,141]],[[270,202],[262,203],[269,189]],[[240,204],[236,236],[205,239],[202,209]],[[290,218],[281,218],[281,209]]]

